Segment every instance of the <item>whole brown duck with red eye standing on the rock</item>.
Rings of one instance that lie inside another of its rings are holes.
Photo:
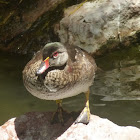
[[[23,83],[33,96],[56,101],[60,123],[64,122],[62,99],[85,93],[85,107],[75,123],[88,124],[90,86],[96,69],[95,60],[87,51],[78,46],[52,42],[26,64]]]

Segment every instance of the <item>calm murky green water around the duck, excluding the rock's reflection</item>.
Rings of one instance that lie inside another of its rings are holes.
[[[8,119],[18,117],[26,112],[56,110],[55,102],[40,100],[24,88],[22,70],[29,59],[30,57],[26,55],[0,53],[0,125]],[[100,63],[101,59],[97,62]],[[102,60],[101,66],[104,66],[104,63]],[[140,128],[140,102],[138,100],[105,101],[102,100],[103,96],[93,93],[93,88],[91,88],[91,113],[108,118],[118,125],[131,125]],[[69,111],[82,110],[84,101],[84,94],[80,94],[65,99],[63,107]]]

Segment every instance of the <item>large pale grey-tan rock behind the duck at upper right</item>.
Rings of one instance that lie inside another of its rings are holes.
[[[139,0],[96,0],[78,7],[68,8],[60,21],[61,42],[92,53],[139,42]]]

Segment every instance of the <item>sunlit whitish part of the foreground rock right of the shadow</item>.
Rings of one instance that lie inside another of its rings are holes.
[[[72,125],[57,140],[140,140],[140,129],[123,127],[92,115],[88,125]]]

